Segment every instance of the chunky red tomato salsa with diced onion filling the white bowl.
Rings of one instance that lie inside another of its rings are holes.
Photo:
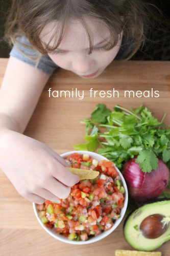
[[[38,216],[45,227],[69,240],[86,241],[111,229],[124,207],[125,189],[111,161],[98,161],[78,153],[65,160],[70,167],[98,170],[100,175],[72,186],[66,199],[45,200],[44,204],[37,205]]]

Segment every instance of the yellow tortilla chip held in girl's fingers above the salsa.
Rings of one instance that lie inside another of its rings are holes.
[[[100,172],[96,170],[85,170],[66,167],[72,174],[79,176],[80,180],[91,180],[99,176]]]

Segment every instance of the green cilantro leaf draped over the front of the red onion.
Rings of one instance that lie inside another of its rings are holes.
[[[151,173],[151,170],[156,170],[158,167],[158,158],[152,150],[141,151],[135,162],[139,163],[139,168],[144,173]]]

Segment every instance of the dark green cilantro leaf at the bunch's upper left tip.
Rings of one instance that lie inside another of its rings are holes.
[[[94,122],[106,123],[106,117],[109,116],[111,111],[106,108],[105,104],[98,104],[91,114],[91,118]]]

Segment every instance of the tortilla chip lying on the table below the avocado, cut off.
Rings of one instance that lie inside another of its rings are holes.
[[[116,250],[115,256],[161,256],[162,253],[159,251],[129,251],[129,250]]]

